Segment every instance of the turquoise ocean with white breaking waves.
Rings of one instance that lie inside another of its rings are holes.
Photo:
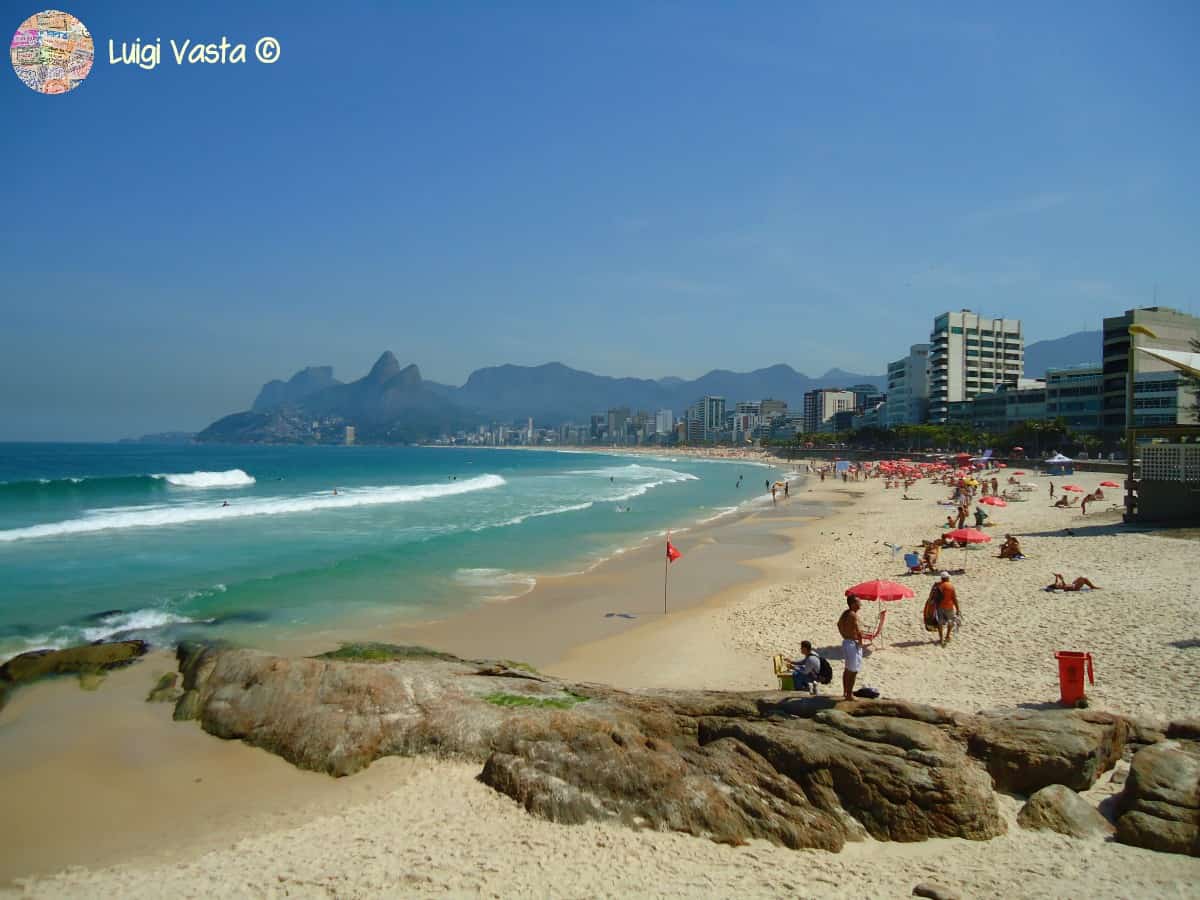
[[[0,660],[442,618],[762,503],[779,474],[670,455],[0,444]]]

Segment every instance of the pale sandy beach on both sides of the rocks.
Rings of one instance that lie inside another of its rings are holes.
[[[1100,478],[1076,481],[1090,490]],[[1093,708],[1158,720],[1200,714],[1190,692],[1200,677],[1200,589],[1188,565],[1196,541],[1124,529],[1108,503],[1086,517],[1051,509],[1044,484],[1027,481],[1038,487],[1027,502],[991,511],[986,530],[996,542],[943,551],[943,565],[966,570],[954,577],[965,626],[946,648],[920,622],[931,577],[902,575],[900,554],[887,545],[911,550],[940,534],[944,512],[936,502],[948,488],[922,482],[908,492],[919,499],[902,500],[880,480],[815,478],[794,482],[788,502],[680,535],[685,556],[672,568],[668,616],[661,614],[655,546],[452,623],[367,637],[526,659],[552,674],[628,689],[764,689],[774,684],[770,655],[798,653],[804,638],[830,659],[836,680],[842,592],[886,577],[917,593],[887,605],[883,643],[859,678],[886,697],[966,712],[1054,706],[1054,652],[1072,649],[1094,656]],[[1020,536],[1026,559],[996,557],[1006,532]],[[1045,593],[1052,572],[1085,575],[1102,589]],[[876,614],[864,611],[869,622]],[[42,896],[907,896],[932,880],[965,896],[1182,898],[1200,883],[1200,859],[1022,830],[1020,800],[1007,797],[1008,834],[988,842],[868,840],[829,854],[557,826],[479,784],[478,766],[452,761],[384,760],[334,781],[172,722],[169,706],[145,704],[151,670],[169,666],[169,658],[156,656],[114,673],[98,696],[70,682],[36,685],[0,714],[0,790],[11,798],[0,876],[17,878],[12,889]],[[53,748],[38,725],[47,719],[78,725],[78,740]],[[106,785],[109,805],[61,821],[72,798],[103,796],[94,781]],[[1118,790],[1105,775],[1085,797],[1099,804]],[[137,824],[127,828],[131,821]],[[58,871],[72,863],[90,868]]]

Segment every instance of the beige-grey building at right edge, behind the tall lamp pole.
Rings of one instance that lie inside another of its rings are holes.
[[[1129,326],[1142,325],[1154,336],[1138,335],[1138,347],[1163,350],[1192,350],[1190,341],[1200,338],[1200,318],[1166,306],[1126,310],[1123,316],[1104,319],[1104,356],[1100,427],[1115,438],[1126,427],[1126,384],[1129,378]],[[1146,353],[1134,361],[1138,384],[1134,386],[1135,425],[1190,425],[1195,396],[1188,383],[1172,368]]]

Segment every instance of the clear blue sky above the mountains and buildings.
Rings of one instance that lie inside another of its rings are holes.
[[[384,349],[872,373],[947,308],[1200,312],[1192,0],[65,2],[88,80],[0,71],[0,439],[196,430]],[[222,35],[246,64],[175,65]],[[157,68],[109,64],[138,38]]]

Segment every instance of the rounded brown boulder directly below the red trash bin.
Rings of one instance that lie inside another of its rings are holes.
[[[1086,791],[1121,758],[1128,733],[1129,722],[1109,713],[1014,709],[980,715],[968,749],[1000,791]]]

